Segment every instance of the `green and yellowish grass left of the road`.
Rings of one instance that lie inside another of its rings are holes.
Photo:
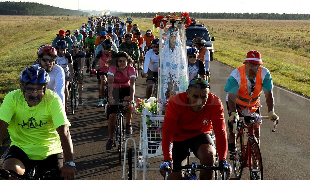
[[[0,105],[5,95],[19,88],[19,74],[37,59],[38,47],[51,44],[60,29],[79,29],[86,17],[69,16],[1,16]]]

